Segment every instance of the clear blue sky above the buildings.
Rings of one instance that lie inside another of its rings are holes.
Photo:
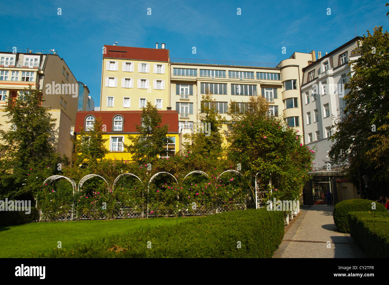
[[[174,58],[278,64],[294,51],[325,54],[336,49],[355,37],[355,22],[359,36],[375,26],[388,30],[385,3],[1,0],[5,21],[0,50],[7,51],[8,46],[55,49],[77,80],[88,85],[95,106],[100,106],[104,44],[155,48],[158,42],[165,43]],[[194,46],[196,54],[192,54]],[[281,53],[283,46],[286,54]]]

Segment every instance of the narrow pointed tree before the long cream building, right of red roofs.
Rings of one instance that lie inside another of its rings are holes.
[[[216,108],[215,100],[207,88],[202,95],[200,123],[192,126],[192,132],[184,135],[186,142],[182,143],[186,152],[191,152],[196,157],[212,157],[217,159],[222,155],[223,136],[221,125],[225,121]]]

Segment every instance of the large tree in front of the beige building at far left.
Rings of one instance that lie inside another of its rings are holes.
[[[4,110],[10,127],[0,130],[1,196],[32,199],[42,179],[58,173],[57,163],[68,164],[54,149],[56,119],[42,107],[43,101],[42,91],[30,87]]]

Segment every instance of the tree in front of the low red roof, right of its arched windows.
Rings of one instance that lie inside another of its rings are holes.
[[[169,125],[160,126],[161,122],[162,115],[151,102],[147,101],[146,107],[142,110],[142,124],[135,125],[139,135],[128,135],[131,144],[124,145],[133,154],[133,160],[140,163],[152,163],[163,152],[166,140],[172,143],[166,138]]]

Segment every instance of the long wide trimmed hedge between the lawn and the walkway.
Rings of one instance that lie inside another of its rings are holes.
[[[249,209],[186,219],[31,257],[272,257],[284,236],[281,211]]]

